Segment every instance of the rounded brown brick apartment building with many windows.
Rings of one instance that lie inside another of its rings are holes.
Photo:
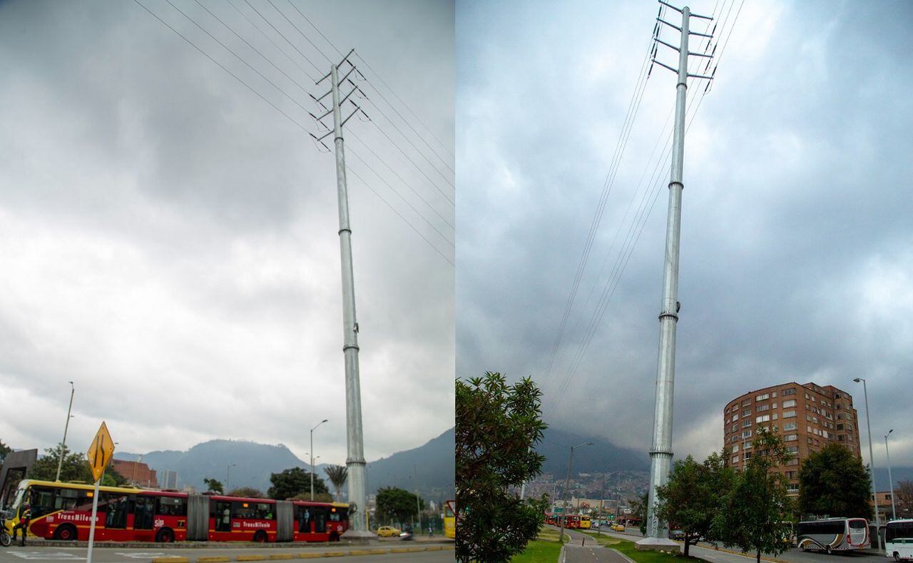
[[[773,471],[783,473],[790,494],[799,494],[799,466],[831,442],[861,459],[859,425],[853,397],[833,386],[784,383],[733,398],[723,409],[723,441],[731,450],[729,465],[742,469],[754,453],[760,428],[780,436],[793,457]]]

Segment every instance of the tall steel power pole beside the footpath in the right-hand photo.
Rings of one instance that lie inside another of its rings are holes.
[[[706,36],[689,30],[692,17],[710,20],[708,16],[691,14],[687,6],[677,8],[660,0],[682,15],[681,27],[674,26],[660,16],[655,29],[656,43],[665,45],[678,51],[678,68],[667,66],[656,60],[656,46],[653,50],[653,60],[656,64],[672,70],[678,76],[676,85],[676,121],[672,139],[672,173],[669,179],[669,210],[666,218],[666,262],[663,270],[663,301],[659,313],[659,357],[656,368],[656,411],[654,414],[653,447],[650,449],[650,489],[647,502],[646,536],[637,542],[639,549],[678,547],[668,539],[669,530],[665,522],[660,522],[656,517],[656,487],[666,484],[672,468],[672,392],[675,384],[676,372],[676,325],[678,323],[678,246],[681,232],[682,210],[682,170],[685,158],[685,100],[687,96],[688,77],[707,78],[688,74],[687,63],[689,55],[708,57],[699,53],[688,52],[688,36]],[[660,6],[660,15],[662,6]],[[679,47],[666,43],[658,36],[660,25],[677,29],[681,36]],[[652,67],[651,67],[652,69]]]

